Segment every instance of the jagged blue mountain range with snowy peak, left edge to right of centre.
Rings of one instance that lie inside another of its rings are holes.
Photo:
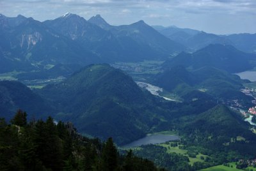
[[[99,26],[98,26],[99,25]],[[43,70],[47,65],[167,59],[186,47],[140,21],[110,26],[97,15],[67,13],[39,22],[0,15],[1,72]],[[103,27],[104,26],[104,27]]]

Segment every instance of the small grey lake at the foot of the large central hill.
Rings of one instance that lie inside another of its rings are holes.
[[[148,135],[147,137],[140,138],[134,142],[122,146],[123,148],[138,147],[147,144],[160,144],[170,140],[179,140],[177,135]]]

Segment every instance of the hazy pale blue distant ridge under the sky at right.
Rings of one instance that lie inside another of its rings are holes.
[[[230,35],[218,35],[205,33],[204,31],[197,31],[194,29],[181,29],[179,27],[170,26],[152,26],[159,33],[170,38],[173,41],[177,41],[195,52],[200,48],[204,48],[207,45],[218,43],[222,45],[232,45],[237,49],[256,53],[256,33],[248,34],[230,34]]]

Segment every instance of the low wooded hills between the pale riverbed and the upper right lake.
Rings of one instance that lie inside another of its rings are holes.
[[[252,96],[240,91],[243,83],[237,75],[209,66],[194,71],[188,71],[184,66],[172,66],[156,75],[152,82],[184,101],[215,98],[225,103],[237,100],[243,108],[252,107]]]

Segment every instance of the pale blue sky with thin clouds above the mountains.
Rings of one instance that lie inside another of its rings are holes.
[[[0,0],[7,17],[44,21],[67,12],[86,20],[100,14],[114,26],[144,20],[214,34],[256,33],[256,0]]]

